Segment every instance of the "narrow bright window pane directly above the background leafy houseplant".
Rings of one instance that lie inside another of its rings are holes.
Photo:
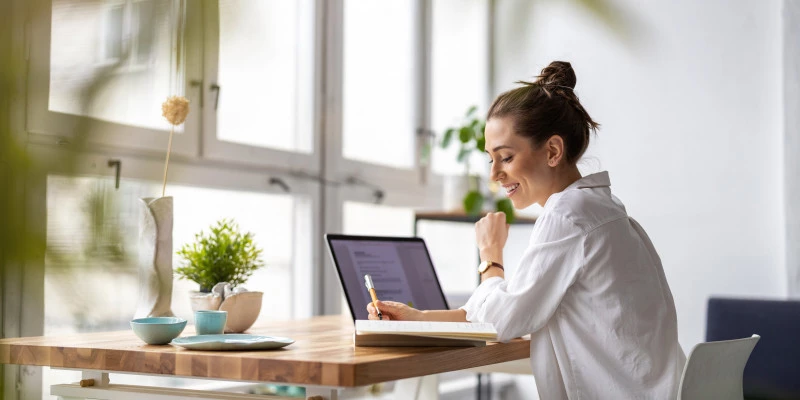
[[[483,118],[488,108],[488,0],[434,0],[431,45],[431,124],[437,143],[444,131],[462,122],[471,106]],[[456,161],[458,143],[434,149],[433,170],[442,174],[463,174]],[[481,157],[473,157],[471,171],[483,171]]]

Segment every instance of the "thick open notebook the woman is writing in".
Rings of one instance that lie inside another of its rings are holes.
[[[356,346],[486,346],[497,340],[489,323],[356,320]]]

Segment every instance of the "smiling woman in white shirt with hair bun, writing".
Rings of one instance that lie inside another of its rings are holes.
[[[485,131],[490,179],[514,208],[543,207],[517,274],[505,279],[508,225],[492,213],[475,225],[481,284],[464,307],[378,308],[389,319],[491,322],[500,340],[530,334],[542,399],[674,399],[686,359],[672,293],[608,173],[578,171],[598,124],[573,92],[575,72],[555,61],[519,83],[495,99]]]

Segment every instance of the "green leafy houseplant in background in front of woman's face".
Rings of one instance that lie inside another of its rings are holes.
[[[467,110],[464,118],[459,126],[448,128],[444,131],[442,141],[440,143],[442,148],[449,147],[452,143],[459,144],[459,151],[457,160],[464,164],[464,177],[468,179],[469,191],[464,195],[462,201],[464,211],[469,215],[478,215],[483,210],[484,195],[477,187],[478,180],[469,179],[469,159],[473,152],[484,152],[486,146],[486,138],[484,131],[486,130],[486,121],[478,117],[475,113],[478,110],[476,106],[472,106]],[[458,141],[454,141],[453,137],[458,137]],[[490,201],[495,202],[495,209],[503,211],[506,214],[506,222],[511,223],[514,220],[514,207],[511,205],[511,200],[508,198],[494,199],[489,197]]]

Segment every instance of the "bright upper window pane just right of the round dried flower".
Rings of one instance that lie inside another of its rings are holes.
[[[313,1],[220,0],[217,137],[310,153]]]

